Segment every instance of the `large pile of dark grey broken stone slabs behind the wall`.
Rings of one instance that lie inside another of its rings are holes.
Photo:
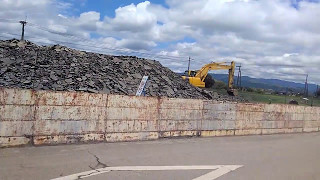
[[[0,41],[1,87],[135,95],[144,75],[146,96],[235,100],[191,86],[158,61]]]

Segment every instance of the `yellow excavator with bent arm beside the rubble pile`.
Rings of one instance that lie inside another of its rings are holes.
[[[189,80],[189,83],[193,86],[200,88],[211,88],[214,85],[214,80],[211,75],[208,74],[210,70],[229,70],[229,79],[228,79],[228,94],[231,96],[237,96],[238,93],[236,89],[233,89],[233,78],[235,71],[235,62],[232,61],[231,65],[227,65],[226,62],[212,62],[204,65],[198,71],[186,71],[186,75],[182,76],[183,79]]]

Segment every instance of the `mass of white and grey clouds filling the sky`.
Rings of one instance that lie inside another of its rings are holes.
[[[30,23],[68,34],[61,36],[27,26],[27,36],[46,43],[74,42],[76,45],[69,46],[99,52],[101,48],[94,46],[103,46],[109,48],[105,52],[117,54],[119,51],[112,48],[147,50],[154,57],[167,56],[167,60],[159,60],[180,72],[186,68],[183,58],[191,56],[195,59],[193,68],[212,60],[236,60],[243,65],[244,75],[302,82],[308,73],[311,81],[320,82],[318,2],[295,2],[298,8],[292,6],[291,0],[166,3],[167,6],[149,1],[129,4],[117,8],[114,17],[101,17],[95,11],[74,16],[70,13],[74,10],[72,3],[59,0],[0,0],[0,19],[21,20],[28,15]],[[0,21],[0,26],[0,35],[20,34],[19,24]],[[89,40],[92,33],[100,38]],[[72,36],[88,41],[74,40]]]

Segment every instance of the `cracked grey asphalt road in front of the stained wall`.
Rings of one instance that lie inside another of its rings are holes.
[[[239,165],[218,180],[319,180],[320,133],[0,149],[1,180],[54,179],[82,172],[79,177],[89,172],[88,180],[206,180],[223,170],[201,169],[204,165]]]

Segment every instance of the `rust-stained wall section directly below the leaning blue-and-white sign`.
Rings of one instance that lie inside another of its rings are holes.
[[[105,132],[109,134],[107,141],[143,138],[137,133],[157,131],[158,107],[157,98],[108,95],[105,117]],[[122,135],[128,135],[128,138]]]

